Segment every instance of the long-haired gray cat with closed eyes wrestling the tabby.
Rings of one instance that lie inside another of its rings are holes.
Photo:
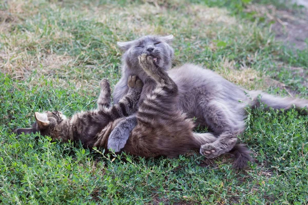
[[[217,137],[215,142],[202,145],[200,153],[207,158],[215,158],[227,153],[237,143],[237,136],[245,129],[245,107],[252,108],[263,103],[274,109],[290,109],[295,106],[301,109],[308,106],[307,99],[275,97],[261,91],[242,89],[213,71],[195,65],[185,64],[171,69],[174,51],[169,45],[172,35],[144,36],[131,42],[119,42],[124,50],[122,62],[122,77],[113,92],[114,103],[127,93],[127,79],[130,75],[138,75],[144,83],[139,103],[155,88],[155,81],[148,76],[138,62],[138,56],[146,53],[155,59],[156,65],[168,70],[168,75],[178,85],[179,97],[177,107],[189,117],[196,117],[196,124],[206,126]],[[266,107],[265,106],[265,107]],[[108,140],[108,148],[118,152],[128,139],[130,131],[136,126],[136,117],[130,116],[123,120],[112,131]],[[249,156],[239,159],[244,167]]]

